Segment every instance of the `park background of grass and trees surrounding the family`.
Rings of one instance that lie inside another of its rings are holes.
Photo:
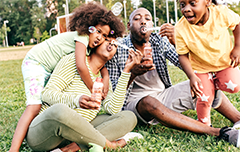
[[[85,3],[85,1],[69,0],[69,12]],[[111,9],[116,2],[114,0],[103,0],[103,4]],[[142,3],[131,4],[126,1],[127,17],[136,7],[145,7],[154,16],[153,1],[142,0]],[[27,51],[36,43],[42,42],[50,37],[49,31],[55,27],[56,18],[65,15],[66,0],[1,0],[0,1],[0,45],[5,46],[6,36],[9,47],[0,47],[0,151],[6,152],[11,146],[11,140],[17,122],[25,110],[25,92],[21,74],[21,62]],[[139,5],[135,5],[139,4]],[[175,19],[174,2],[169,1],[169,18]],[[230,9],[240,14],[240,3],[227,4]],[[155,1],[157,25],[167,22],[166,1]],[[179,6],[178,6],[179,7]],[[181,13],[178,8],[178,19]],[[124,11],[119,15],[124,21]],[[4,25],[4,21],[8,21]],[[7,34],[6,34],[7,31]],[[56,35],[53,30],[51,35]],[[32,41],[30,41],[32,40]],[[33,41],[34,40],[34,41]],[[16,46],[17,42],[24,42],[25,46]],[[32,42],[32,43],[31,43]],[[14,47],[15,45],[15,47]],[[185,74],[174,66],[169,65],[169,72],[173,84],[187,79]],[[240,110],[240,93],[226,93],[233,105]],[[185,115],[197,118],[196,112],[187,111]],[[214,127],[224,127],[233,124],[217,113],[211,112]],[[178,131],[167,128],[161,124],[156,126],[138,125],[134,131],[140,132],[144,140],[133,140],[123,149],[115,151],[240,151],[238,148],[224,141],[216,142],[215,137],[208,135],[197,135],[187,131]],[[24,141],[21,150],[31,152]],[[107,150],[110,151],[110,150]]]

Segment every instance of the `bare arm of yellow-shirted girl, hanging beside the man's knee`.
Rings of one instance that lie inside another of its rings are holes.
[[[195,93],[196,96],[200,96],[200,93],[202,93],[202,91],[199,89],[198,86],[202,88],[202,82],[194,73],[188,58],[188,54],[179,55],[179,62],[183,68],[183,71],[190,79],[191,90]]]

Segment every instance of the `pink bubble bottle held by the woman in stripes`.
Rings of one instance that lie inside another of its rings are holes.
[[[96,81],[93,83],[92,97],[97,101],[99,108],[102,101],[102,90],[103,90],[103,80],[97,77]]]

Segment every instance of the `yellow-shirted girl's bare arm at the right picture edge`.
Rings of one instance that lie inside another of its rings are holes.
[[[231,65],[236,67],[240,64],[240,23],[233,30],[234,35],[234,48],[230,54]]]

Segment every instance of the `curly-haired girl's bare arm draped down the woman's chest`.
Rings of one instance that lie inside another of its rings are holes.
[[[76,41],[75,47],[76,67],[79,75],[81,76],[81,79],[88,87],[88,89],[92,92],[93,82],[86,65],[86,49],[87,48],[84,44]]]

